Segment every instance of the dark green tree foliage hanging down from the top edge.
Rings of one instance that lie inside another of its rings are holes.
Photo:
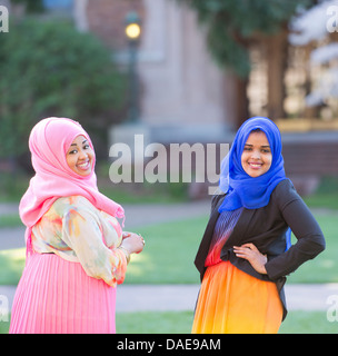
[[[207,27],[211,55],[220,66],[240,77],[250,71],[248,47],[257,34],[274,34],[282,29],[299,7],[310,0],[182,0]],[[180,1],[181,2],[181,1]]]

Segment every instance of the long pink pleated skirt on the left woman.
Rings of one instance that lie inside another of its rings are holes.
[[[116,288],[80,264],[32,255],[19,281],[10,334],[115,334]]]

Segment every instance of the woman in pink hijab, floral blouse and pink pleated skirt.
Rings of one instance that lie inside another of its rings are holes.
[[[123,208],[99,192],[92,142],[70,119],[31,131],[36,170],[20,202],[27,261],[10,333],[116,333],[116,286],[145,240],[122,233]]]

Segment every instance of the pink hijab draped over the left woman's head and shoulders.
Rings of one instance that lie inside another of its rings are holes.
[[[123,208],[99,191],[93,169],[89,176],[82,177],[68,167],[66,154],[74,138],[81,135],[93,149],[90,137],[81,125],[67,118],[43,119],[30,134],[29,149],[36,175],[19,206],[21,220],[27,226],[28,255],[32,253],[32,227],[60,197],[82,196],[98,209],[117,218],[125,218]]]

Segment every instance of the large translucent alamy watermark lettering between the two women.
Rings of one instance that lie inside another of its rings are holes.
[[[149,144],[143,135],[135,135],[133,147],[115,144],[109,157],[115,158],[109,168],[110,180],[119,182],[208,182],[209,194],[215,194],[219,181],[221,159],[229,144]],[[217,159],[218,158],[218,159]]]

